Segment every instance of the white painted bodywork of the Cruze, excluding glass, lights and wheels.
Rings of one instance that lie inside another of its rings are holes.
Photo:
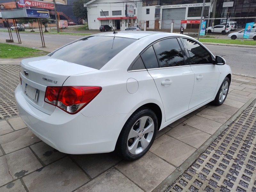
[[[214,100],[223,79],[231,76],[228,65],[213,64],[127,71],[138,54],[154,41],[165,37],[190,38],[185,35],[156,32],[96,35],[138,40],[116,54],[100,70],[50,56],[21,62],[22,85],[15,90],[20,117],[37,137],[61,152],[88,154],[113,151],[125,122],[144,105],[159,107],[161,114],[157,115],[161,119],[158,129],[161,130]],[[23,70],[31,76],[26,76]],[[200,75],[205,78],[199,81],[196,77]],[[172,83],[162,85],[168,80]],[[26,84],[39,90],[37,102],[24,93]],[[101,86],[102,90],[81,111],[68,114],[44,102],[47,86]],[[199,94],[202,90],[207,97]]]

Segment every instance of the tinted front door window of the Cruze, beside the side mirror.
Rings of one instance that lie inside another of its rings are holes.
[[[212,63],[212,57],[201,45],[189,39],[183,39],[190,56],[191,64],[208,64]]]

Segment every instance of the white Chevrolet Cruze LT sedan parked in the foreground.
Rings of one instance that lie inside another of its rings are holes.
[[[221,105],[232,74],[189,36],[145,31],[83,37],[20,66],[17,106],[37,137],[64,153],[116,150],[128,160],[149,150],[156,131]]]

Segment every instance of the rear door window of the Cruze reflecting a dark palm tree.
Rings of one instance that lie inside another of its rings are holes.
[[[154,44],[160,67],[185,65],[184,55],[176,38],[165,39]]]

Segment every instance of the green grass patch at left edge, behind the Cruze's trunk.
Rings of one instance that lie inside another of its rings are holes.
[[[47,55],[48,53],[49,52],[47,51],[41,51],[38,49],[0,43],[0,58],[29,58]]]

